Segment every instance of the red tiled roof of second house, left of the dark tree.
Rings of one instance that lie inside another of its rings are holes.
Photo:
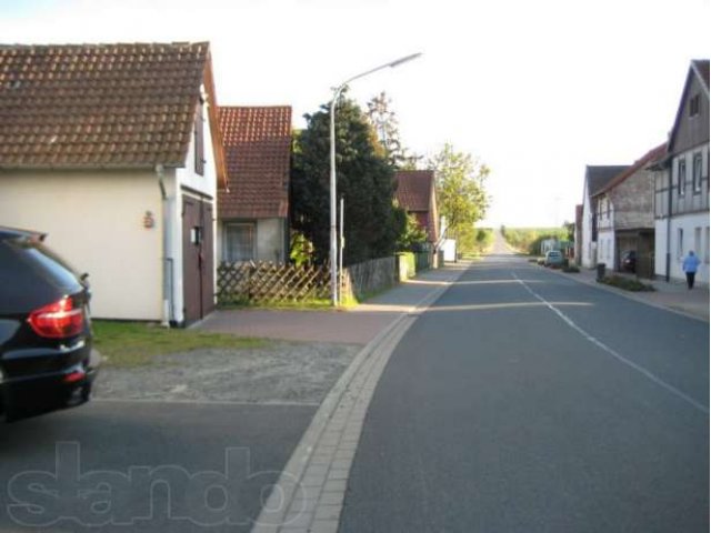
[[[289,212],[291,108],[221,107],[228,192],[219,192],[222,219],[286,218]]]

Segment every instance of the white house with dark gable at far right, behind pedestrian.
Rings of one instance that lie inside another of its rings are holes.
[[[691,61],[671,130],[665,172],[654,187],[654,272],[683,280],[689,250],[701,259],[697,274],[709,283],[709,60]]]

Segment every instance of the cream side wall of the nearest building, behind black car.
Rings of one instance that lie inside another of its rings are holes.
[[[143,227],[150,212],[154,227]],[[97,318],[160,320],[161,195],[154,172],[2,172],[0,224],[48,233],[88,272]]]

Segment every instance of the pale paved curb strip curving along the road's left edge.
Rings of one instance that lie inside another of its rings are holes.
[[[287,462],[252,533],[338,531],[368,406],[388,360],[417,316],[464,272],[455,271],[443,286],[400,314],[356,355]]]

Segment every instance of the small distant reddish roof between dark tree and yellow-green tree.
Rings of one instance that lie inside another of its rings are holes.
[[[431,170],[398,170],[395,199],[408,213],[414,213],[428,233],[430,242],[438,240],[438,220],[434,194],[434,172]],[[431,209],[434,208],[434,212]]]

